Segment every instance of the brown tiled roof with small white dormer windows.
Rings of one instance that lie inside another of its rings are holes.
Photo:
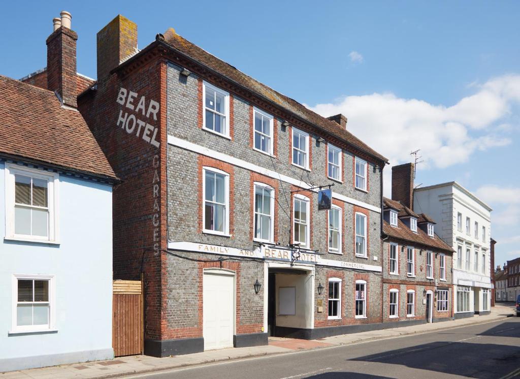
[[[402,208],[405,207],[404,205],[401,205],[399,202],[396,202],[391,199],[384,198],[383,201],[386,207],[394,207],[397,206],[397,204],[399,204],[401,206],[399,214],[401,213]],[[392,206],[389,206],[390,204],[392,204]],[[451,246],[449,246],[446,242],[440,239],[439,236],[437,236],[437,234],[434,233],[434,236],[430,237],[421,228],[417,228],[417,233],[412,232],[410,228],[407,227],[400,220],[399,217],[397,219],[397,227],[393,227],[385,220],[383,220],[383,233],[389,237],[393,237],[396,239],[405,240],[412,243],[419,243],[423,246],[430,247],[433,250],[443,250],[449,253],[453,253],[453,249],[451,248]]]

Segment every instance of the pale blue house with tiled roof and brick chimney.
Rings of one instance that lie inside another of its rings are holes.
[[[47,38],[48,69],[24,79],[38,87],[0,76],[0,371],[113,357],[119,180],[75,108],[68,26]]]

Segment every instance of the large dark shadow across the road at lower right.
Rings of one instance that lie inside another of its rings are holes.
[[[492,328],[495,329],[495,328]],[[502,337],[497,336],[497,337]],[[520,347],[471,342],[433,342],[353,358],[476,378],[500,377],[518,368]]]

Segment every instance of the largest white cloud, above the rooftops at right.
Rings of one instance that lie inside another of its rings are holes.
[[[309,108],[323,116],[345,114],[347,129],[392,165],[410,162],[410,152],[421,149],[425,160],[421,169],[445,168],[467,162],[475,151],[511,143],[504,123],[508,118],[518,120],[510,115],[520,104],[520,75],[500,76],[473,87],[474,94],[449,107],[374,93]]]

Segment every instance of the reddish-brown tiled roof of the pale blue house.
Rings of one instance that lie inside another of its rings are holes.
[[[80,112],[46,89],[0,75],[0,154],[117,179]]]

